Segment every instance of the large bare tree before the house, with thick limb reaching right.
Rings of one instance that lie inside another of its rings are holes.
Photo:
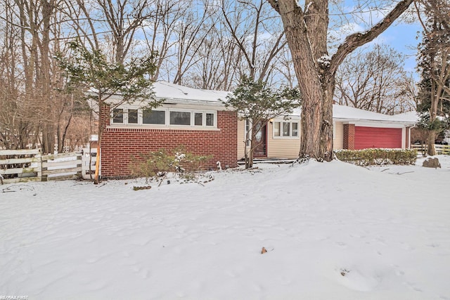
[[[335,74],[342,61],[390,27],[413,0],[401,0],[365,32],[350,34],[333,54],[328,53],[328,0],[268,0],[281,15],[302,93],[300,157],[333,159],[333,94]]]

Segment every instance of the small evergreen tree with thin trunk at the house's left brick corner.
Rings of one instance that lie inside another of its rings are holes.
[[[69,79],[69,89],[82,89],[88,100],[96,105],[98,110],[98,145],[96,159],[96,173],[94,183],[98,183],[98,169],[100,164],[101,136],[105,124],[102,122],[105,105],[117,107],[122,103],[141,100],[148,108],[158,107],[160,101],[153,98],[150,79],[155,73],[155,56],[152,54],[143,58],[129,60],[128,63],[109,63],[100,50],[89,51],[79,42],[69,44],[72,56],[63,58],[58,56],[60,67],[65,70]],[[120,95],[122,100],[106,103],[113,95]]]

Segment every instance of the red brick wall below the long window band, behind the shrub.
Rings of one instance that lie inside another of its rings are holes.
[[[109,115],[109,114],[108,114]],[[101,141],[101,174],[103,178],[130,175],[131,157],[165,148],[168,152],[184,145],[194,155],[212,155],[205,167],[237,167],[238,118],[236,112],[217,112],[217,129],[127,129],[107,127]]]

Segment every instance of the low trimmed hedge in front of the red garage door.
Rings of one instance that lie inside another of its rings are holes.
[[[342,162],[359,166],[415,164],[417,159],[417,151],[411,149],[336,150],[335,155]]]

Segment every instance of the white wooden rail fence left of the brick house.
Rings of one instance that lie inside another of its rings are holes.
[[[41,155],[40,150],[0,150],[0,184],[82,176],[82,154]]]

